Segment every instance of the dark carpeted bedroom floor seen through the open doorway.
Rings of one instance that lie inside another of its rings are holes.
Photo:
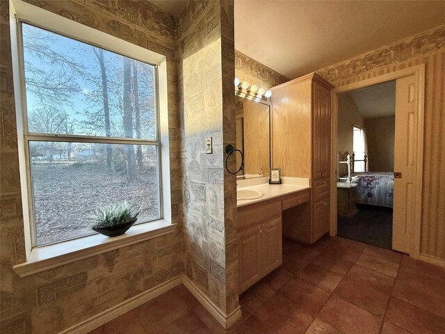
[[[337,235],[381,248],[391,249],[392,208],[357,205],[352,218],[337,218]]]

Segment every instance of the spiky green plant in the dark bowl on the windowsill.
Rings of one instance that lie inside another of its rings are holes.
[[[101,205],[92,215],[92,219],[95,221],[94,227],[105,228],[128,223],[137,218],[141,209],[142,205],[138,207],[128,200],[124,200],[118,204]]]

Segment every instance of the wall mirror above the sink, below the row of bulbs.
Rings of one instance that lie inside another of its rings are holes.
[[[244,154],[244,168],[236,176],[261,177],[270,171],[270,102],[235,97],[236,148]],[[241,155],[236,154],[236,166]]]

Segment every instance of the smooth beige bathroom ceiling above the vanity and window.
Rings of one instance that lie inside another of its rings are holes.
[[[445,24],[445,1],[235,0],[234,15],[235,49],[295,79]]]

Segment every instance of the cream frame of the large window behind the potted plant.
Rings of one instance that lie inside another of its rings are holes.
[[[156,96],[156,138],[116,138],[106,136],[84,136],[72,134],[29,134],[26,111],[26,91],[24,84],[24,53],[22,42],[22,22],[37,26],[38,28],[51,31],[79,42],[85,42],[89,45],[100,47],[112,51],[115,54],[127,56],[137,61],[142,61],[155,66],[155,96]],[[92,29],[71,19],[61,17],[47,10],[24,3],[23,1],[13,0],[10,3],[10,33],[13,58],[13,75],[15,88],[15,105],[17,115],[17,145],[19,153],[19,170],[22,187],[22,206],[24,214],[24,232],[26,258],[30,260],[35,248],[35,228],[33,227],[33,203],[32,203],[32,185],[31,185],[31,164],[29,160],[29,142],[30,141],[67,141],[84,143],[111,143],[111,144],[138,144],[156,146],[158,155],[158,175],[159,175],[159,214],[160,217],[149,220],[147,223],[140,223],[137,230],[140,233],[156,228],[163,228],[171,224],[171,199],[170,199],[170,161],[169,143],[168,143],[168,89],[167,89],[167,70],[166,58],[161,54],[144,49],[130,42],[121,40],[112,35]],[[163,159],[165,157],[165,159]],[[160,223],[161,221],[161,223]],[[151,223],[150,223],[151,222]],[[145,225],[145,226],[142,226]],[[139,227],[140,226],[140,227]],[[171,229],[170,229],[171,230]],[[158,233],[159,234],[159,233]],[[97,236],[79,237],[85,248],[97,244]],[[102,237],[102,236],[101,236]],[[86,239],[90,240],[87,241]],[[95,241],[92,241],[95,239]],[[138,237],[140,239],[140,237]],[[147,237],[147,239],[149,239]],[[46,247],[67,246],[67,243],[75,244],[75,240],[60,241]],[[91,242],[90,242],[91,241]],[[102,240],[99,241],[102,243]],[[132,241],[128,241],[132,244]],[[77,243],[79,244],[79,243]],[[122,244],[122,241],[120,241]],[[108,245],[109,247],[109,245]],[[40,247],[39,247],[40,248]],[[78,246],[74,248],[79,248]],[[102,252],[101,252],[102,253]],[[37,256],[38,257],[38,256]]]

